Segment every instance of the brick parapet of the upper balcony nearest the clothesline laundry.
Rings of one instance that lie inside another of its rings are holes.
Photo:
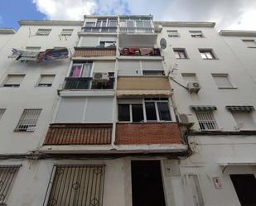
[[[75,50],[75,57],[84,56],[115,56],[116,50]]]

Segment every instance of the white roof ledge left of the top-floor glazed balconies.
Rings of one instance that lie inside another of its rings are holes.
[[[21,20],[20,26],[83,26],[84,21]]]

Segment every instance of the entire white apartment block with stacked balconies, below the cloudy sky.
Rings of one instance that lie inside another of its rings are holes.
[[[151,15],[20,25],[0,30],[0,205],[256,204],[238,31]]]

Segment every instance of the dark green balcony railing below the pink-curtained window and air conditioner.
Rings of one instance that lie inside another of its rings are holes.
[[[66,77],[64,89],[113,89],[114,77],[107,81],[94,80],[91,77]]]

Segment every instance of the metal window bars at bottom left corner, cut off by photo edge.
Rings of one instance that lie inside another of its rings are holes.
[[[0,205],[5,205],[20,165],[0,165]]]

